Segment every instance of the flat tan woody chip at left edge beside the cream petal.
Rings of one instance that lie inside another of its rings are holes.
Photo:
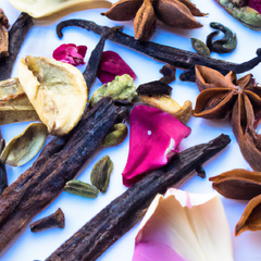
[[[18,78],[0,82],[0,125],[39,121]]]

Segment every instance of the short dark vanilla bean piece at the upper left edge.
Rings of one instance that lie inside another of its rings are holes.
[[[0,80],[11,77],[13,64],[24,39],[34,25],[34,20],[26,13],[21,13],[9,30],[9,57],[0,58]]]

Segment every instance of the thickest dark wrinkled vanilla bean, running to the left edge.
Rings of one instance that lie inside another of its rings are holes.
[[[73,129],[66,144],[61,142],[60,151],[45,160],[39,157],[32,171],[29,169],[4,189],[0,196],[0,251],[29,224],[34,215],[61,194],[66,182],[74,178],[86,160],[100,148],[117,120],[117,110],[111,99],[100,100]]]

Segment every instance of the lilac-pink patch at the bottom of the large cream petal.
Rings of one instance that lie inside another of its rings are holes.
[[[153,241],[135,245],[133,261],[185,261],[170,246]]]

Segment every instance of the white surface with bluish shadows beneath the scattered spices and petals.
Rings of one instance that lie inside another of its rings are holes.
[[[113,0],[115,2],[115,0]],[[229,16],[222,8],[220,8],[214,0],[194,0],[198,8],[206,13],[209,13],[207,17],[197,17],[197,20],[204,26],[194,30],[175,30],[167,32],[160,27],[151,40],[185,50],[192,51],[190,37],[206,40],[207,35],[212,32],[209,27],[210,22],[220,22],[228,26],[237,34],[238,46],[233,53],[228,54],[215,54],[212,53],[212,58],[223,59],[232,62],[244,62],[256,57],[257,48],[261,47],[261,33],[250,30],[243,26],[239,22]],[[10,24],[13,24],[20,12],[11,7],[8,0],[0,1],[0,8],[7,13]],[[124,32],[133,35],[133,22],[112,22],[100,13],[105,10],[89,10],[72,14],[65,18],[85,18],[92,20],[100,25],[125,25]],[[17,76],[17,63],[21,58],[30,55],[51,57],[52,51],[61,44],[76,44],[86,45],[88,47],[87,61],[92,48],[99,40],[99,36],[94,33],[70,27],[64,29],[64,37],[59,39],[55,35],[55,24],[52,26],[35,26],[27,35],[24,45],[18,53],[17,61],[15,63],[12,76]],[[162,67],[162,63],[154,62],[153,60],[146,58],[135,51],[130,51],[125,47],[107,41],[105,50],[112,50],[117,52],[135,71],[137,79],[135,84],[144,84],[147,82],[156,80],[161,77],[159,70]],[[79,67],[82,71],[85,66]],[[261,83],[261,65],[257,66],[251,73],[256,76],[257,80]],[[173,87],[172,97],[183,104],[185,100],[191,100],[195,105],[196,98],[199,94],[196,84],[182,83],[178,79],[181,71],[177,72],[177,79],[171,84]],[[245,75],[245,74],[243,74]],[[91,89],[94,90],[100,86],[97,79],[96,85]],[[227,134],[232,138],[231,145],[215,159],[209,161],[204,169],[207,177],[221,174],[224,171],[229,171],[236,167],[244,167],[251,170],[248,163],[243,159],[238,145],[232,133],[232,128],[228,122],[207,121],[202,119],[191,119],[188,122],[191,127],[191,135],[182,142],[182,149],[190,146],[207,142],[210,139],[216,137],[221,133]],[[10,140],[13,136],[21,133],[27,123],[12,124],[2,127],[3,136]],[[125,166],[128,153],[128,138],[119,147],[112,149],[105,149],[97,153],[88,162],[88,166],[83,170],[78,179],[89,182],[90,172],[95,163],[103,156],[109,154],[114,163],[114,170],[111,175],[111,182],[105,195],[99,195],[97,199],[85,199],[77,196],[72,196],[67,192],[62,195],[53,201],[45,211],[35,216],[34,221],[47,216],[53,213],[59,207],[65,214],[65,228],[64,229],[50,229],[38,234],[30,233],[29,228],[18,237],[18,239],[11,246],[8,252],[1,258],[1,261],[29,261],[29,260],[45,260],[49,257],[61,244],[64,243],[70,236],[72,236],[78,228],[80,228],[87,221],[90,220],[96,213],[104,208],[111,200],[125,191],[125,187],[122,185],[121,173]],[[21,173],[28,169],[33,161],[21,167],[8,166],[9,183],[14,182]],[[208,178],[194,177],[183,189],[189,192],[214,192],[211,183]],[[235,201],[222,198],[222,202],[225,208],[225,212],[228,219],[231,233],[233,237],[234,257],[235,261],[258,261],[261,260],[261,232],[245,232],[239,237],[234,237],[234,228],[240,215],[246,207],[245,201]],[[117,243],[115,243],[110,249],[108,249],[98,260],[124,260],[130,261],[134,238],[137,234],[138,226],[134,227]]]

